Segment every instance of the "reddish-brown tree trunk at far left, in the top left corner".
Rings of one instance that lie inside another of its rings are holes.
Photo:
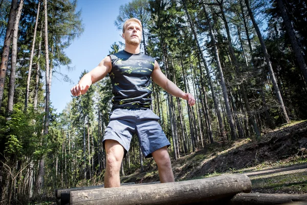
[[[17,0],[12,0],[11,9],[9,14],[8,25],[6,29],[6,34],[4,38],[3,51],[1,56],[1,64],[0,64],[0,108],[3,100],[4,93],[4,84],[5,84],[5,76],[8,68],[8,60],[10,55],[10,46],[13,37],[13,29],[16,19],[16,9],[17,9]]]

